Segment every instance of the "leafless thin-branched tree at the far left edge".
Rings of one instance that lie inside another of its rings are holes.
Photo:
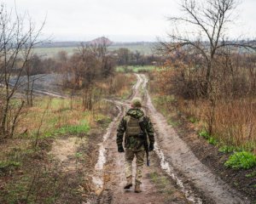
[[[12,99],[23,82],[20,76],[26,69],[31,57],[32,48],[38,41],[38,36],[44,24],[37,30],[31,19],[25,22],[25,17],[8,12],[4,5],[0,10],[0,94],[1,116],[0,135],[2,138],[12,136],[15,122],[24,102],[18,103]],[[28,25],[28,26],[25,26]],[[10,84],[12,77],[15,82]],[[12,110],[19,110],[11,112]],[[11,114],[12,113],[12,114]]]

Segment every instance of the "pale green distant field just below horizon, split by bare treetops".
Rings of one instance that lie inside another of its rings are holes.
[[[35,48],[34,52],[42,57],[55,57],[60,51],[66,51],[68,55],[71,55],[77,48],[78,47]],[[108,49],[113,51],[119,48],[129,48],[131,52],[137,50],[142,54],[152,54],[153,44],[117,44],[110,46]]]

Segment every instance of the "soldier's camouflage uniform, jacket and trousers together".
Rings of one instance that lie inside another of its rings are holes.
[[[144,112],[139,108],[131,108],[126,112],[125,116],[122,118],[119,123],[117,130],[117,139],[116,142],[118,147],[122,147],[123,138],[125,133],[125,176],[127,180],[132,177],[132,166],[131,163],[134,159],[134,156],[137,158],[137,171],[136,171],[136,184],[141,184],[142,171],[143,171],[143,162],[145,150],[143,146],[143,139],[138,135],[127,135],[127,122],[129,118],[137,118],[137,120],[144,121],[144,127],[148,133],[148,139],[152,146],[154,146],[154,127],[149,120],[148,116],[144,115]],[[141,131],[141,130],[140,130]]]

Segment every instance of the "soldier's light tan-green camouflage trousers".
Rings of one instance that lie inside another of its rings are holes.
[[[125,176],[126,178],[132,177],[132,161],[136,157],[136,177],[135,183],[142,184],[143,177],[143,163],[144,163],[145,150],[125,150]]]

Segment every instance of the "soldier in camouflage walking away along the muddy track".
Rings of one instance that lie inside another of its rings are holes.
[[[125,176],[127,184],[124,189],[130,189],[132,186],[132,166],[131,163],[136,157],[136,178],[135,178],[135,192],[140,193],[140,184],[143,177],[143,162],[145,156],[145,139],[142,135],[143,128],[148,133],[149,139],[149,151],[154,150],[154,127],[149,120],[148,116],[145,116],[141,109],[141,99],[133,99],[131,102],[131,109],[129,109],[122,120],[119,122],[117,130],[117,145],[119,152],[125,152]],[[123,138],[125,133],[125,150],[123,148]],[[147,142],[146,142],[147,143]],[[146,147],[147,148],[147,147]]]

